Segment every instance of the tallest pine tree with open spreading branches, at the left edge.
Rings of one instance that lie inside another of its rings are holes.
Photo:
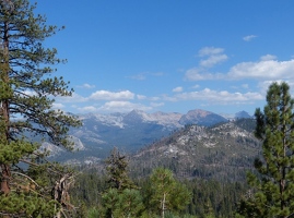
[[[54,97],[70,96],[72,90],[62,77],[51,75],[52,65],[64,61],[55,48],[44,47],[59,29],[35,15],[35,8],[28,0],[0,1],[0,215],[5,217],[60,213],[63,203],[50,192],[71,175],[42,160],[39,144],[32,138],[42,136],[70,149],[67,132],[80,125],[74,117],[52,109]]]

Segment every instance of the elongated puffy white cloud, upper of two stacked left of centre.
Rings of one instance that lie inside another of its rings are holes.
[[[134,94],[130,90],[121,90],[118,93],[113,93],[109,90],[97,90],[89,97],[90,100],[122,100],[133,98]]]

